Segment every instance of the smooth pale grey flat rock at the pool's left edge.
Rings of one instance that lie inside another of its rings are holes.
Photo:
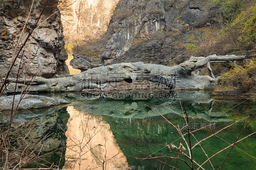
[[[14,102],[13,102],[14,98]],[[22,99],[22,100],[20,100]],[[27,110],[27,109],[37,109],[42,107],[50,107],[56,106],[60,104],[67,104],[69,103],[63,99],[45,97],[45,96],[38,96],[38,95],[15,95],[15,96],[7,96],[7,97],[0,97],[0,110],[1,111],[11,111],[12,110],[12,103],[14,103],[14,109],[17,110]]]

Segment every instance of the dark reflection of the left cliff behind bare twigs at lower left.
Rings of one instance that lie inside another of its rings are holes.
[[[69,118],[66,108],[52,107],[16,113],[7,138],[10,141],[8,155],[8,163],[12,163],[8,165],[10,168],[15,165],[22,168],[51,167],[51,164],[56,165],[52,168],[62,168],[65,163],[67,139],[65,130]],[[7,116],[8,113],[5,115]],[[1,126],[5,129],[3,133],[6,133],[8,122],[3,122]],[[1,158],[4,155],[4,152],[1,153]],[[37,156],[40,158],[31,161]],[[0,166],[4,162],[5,160],[1,159]]]

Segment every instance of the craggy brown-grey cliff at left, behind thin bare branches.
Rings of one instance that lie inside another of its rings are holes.
[[[60,21],[60,12],[56,6],[57,0],[48,1],[47,4],[41,0],[36,0],[34,4],[32,2],[32,0],[0,1],[1,78],[4,78],[9,69],[19,38],[21,39],[18,50],[33,27],[36,29],[22,48],[9,77],[16,76],[19,66],[20,77],[52,78],[56,74],[69,74],[65,64],[68,56],[64,50],[64,41],[62,41],[64,38],[63,27]],[[48,7],[44,8],[44,6]],[[42,12],[43,8],[44,11]],[[30,9],[31,14],[29,16]],[[25,25],[26,20],[28,22]],[[24,27],[24,33],[21,34]]]

